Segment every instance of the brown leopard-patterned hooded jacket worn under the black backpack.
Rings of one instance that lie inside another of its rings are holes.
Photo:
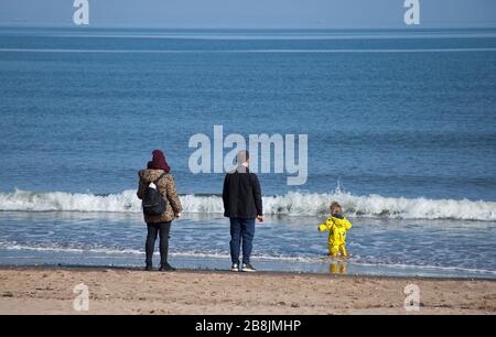
[[[160,216],[148,216],[144,215],[144,222],[147,224],[158,224],[168,222],[175,218],[177,214],[183,210],[181,206],[181,200],[175,191],[174,180],[171,174],[165,174],[162,178],[157,181],[165,172],[163,170],[142,170],[138,173],[140,177],[138,186],[138,198],[143,199],[144,191],[148,185],[154,182],[166,202],[165,211]]]

